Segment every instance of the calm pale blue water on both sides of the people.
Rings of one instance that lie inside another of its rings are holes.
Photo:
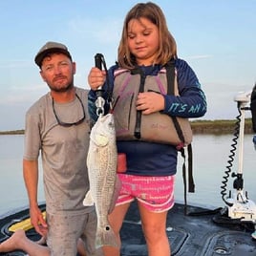
[[[245,135],[244,141],[244,187],[248,198],[256,203],[256,151],[252,135]],[[208,207],[222,207],[221,185],[224,172],[227,171],[227,160],[230,160],[230,150],[233,136],[195,135],[193,140],[193,166],[196,193],[187,194],[191,204]],[[237,146],[238,147],[238,146]],[[238,171],[238,150],[232,162],[231,171]],[[6,215],[17,207],[28,206],[28,197],[22,175],[23,135],[0,136],[0,216]],[[181,175],[182,159],[179,157],[179,171],[176,179],[175,197],[183,203],[183,181]],[[44,201],[42,186],[42,168],[39,165],[38,201]],[[227,193],[233,187],[234,178],[227,182]]]

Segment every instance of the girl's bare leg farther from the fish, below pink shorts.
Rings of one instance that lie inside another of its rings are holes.
[[[148,248],[148,256],[170,256],[171,249],[166,234],[167,212],[152,212],[139,203],[141,225]]]

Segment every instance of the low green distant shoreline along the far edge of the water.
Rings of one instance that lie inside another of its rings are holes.
[[[236,128],[236,119],[231,120],[195,120],[191,121],[194,134],[233,134]],[[251,118],[245,118],[245,134],[253,134]],[[24,135],[24,130],[2,131],[0,135]]]

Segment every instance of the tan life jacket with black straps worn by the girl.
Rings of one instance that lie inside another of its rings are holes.
[[[169,81],[166,73],[167,68],[162,68],[158,75],[144,75],[139,69],[115,71],[113,113],[117,140],[139,139],[178,147],[191,143],[192,130],[188,118],[170,117],[160,112],[142,115],[141,111],[136,110],[137,96],[141,92],[166,95],[169,86],[173,88],[170,94],[179,96],[177,75],[173,75],[173,81]],[[167,80],[173,85],[169,85]]]

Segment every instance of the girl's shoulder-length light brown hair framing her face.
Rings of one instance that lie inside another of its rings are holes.
[[[160,7],[152,2],[139,3],[126,15],[122,35],[119,42],[117,62],[120,67],[133,69],[136,66],[135,56],[128,49],[128,23],[131,19],[146,18],[155,24],[160,33],[160,48],[156,54],[154,63],[164,65],[171,58],[177,57],[177,45],[174,37],[168,31],[166,20]]]

